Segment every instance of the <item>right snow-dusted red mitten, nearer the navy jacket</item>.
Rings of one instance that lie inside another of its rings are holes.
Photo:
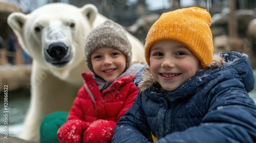
[[[111,142],[116,122],[108,120],[94,121],[84,132],[82,141],[90,143]]]

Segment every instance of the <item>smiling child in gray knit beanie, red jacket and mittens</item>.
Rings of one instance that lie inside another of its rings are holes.
[[[138,93],[132,79],[143,65],[131,65],[131,44],[120,25],[106,20],[89,34],[85,51],[91,72],[82,74],[84,84],[57,132],[59,142],[111,142]]]

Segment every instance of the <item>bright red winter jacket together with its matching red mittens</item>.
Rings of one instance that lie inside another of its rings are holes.
[[[119,118],[129,109],[138,89],[134,75],[123,76],[102,92],[90,73],[82,74],[84,85],[78,90],[68,120],[58,130],[59,142],[111,142]],[[86,88],[90,89],[90,93]]]

